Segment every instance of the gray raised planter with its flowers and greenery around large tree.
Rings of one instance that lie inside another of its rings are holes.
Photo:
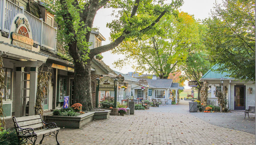
[[[46,123],[56,123],[58,127],[81,128],[94,119],[108,119],[111,110],[93,109],[91,112],[83,112],[82,104],[73,104],[70,108],[54,109],[46,115]]]

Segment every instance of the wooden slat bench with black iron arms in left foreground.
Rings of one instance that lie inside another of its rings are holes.
[[[60,145],[57,140],[57,135],[60,128],[57,127],[55,123],[45,123],[41,115],[17,118],[13,117],[12,120],[20,143],[28,143],[31,141],[32,144],[35,145],[37,136],[42,134],[40,144],[42,144],[45,136],[52,135],[56,137],[57,145]],[[45,135],[47,133],[49,134]]]

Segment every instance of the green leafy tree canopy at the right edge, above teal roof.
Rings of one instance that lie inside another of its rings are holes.
[[[218,71],[255,82],[255,0],[223,0],[204,23],[209,58]]]

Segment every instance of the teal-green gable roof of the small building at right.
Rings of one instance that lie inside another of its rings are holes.
[[[228,75],[230,75],[229,73],[227,73],[227,72],[220,73],[220,72],[215,71],[216,69],[219,69],[219,65],[214,65],[210,70],[208,70],[206,72],[206,74],[204,74],[202,76],[201,79],[221,79],[221,78],[234,79],[234,78],[231,78],[228,76]]]

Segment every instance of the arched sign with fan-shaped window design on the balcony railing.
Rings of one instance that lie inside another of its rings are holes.
[[[32,38],[32,29],[27,17],[19,13],[13,20],[9,34],[12,45],[38,52],[40,46],[37,48],[33,47],[34,40]]]

